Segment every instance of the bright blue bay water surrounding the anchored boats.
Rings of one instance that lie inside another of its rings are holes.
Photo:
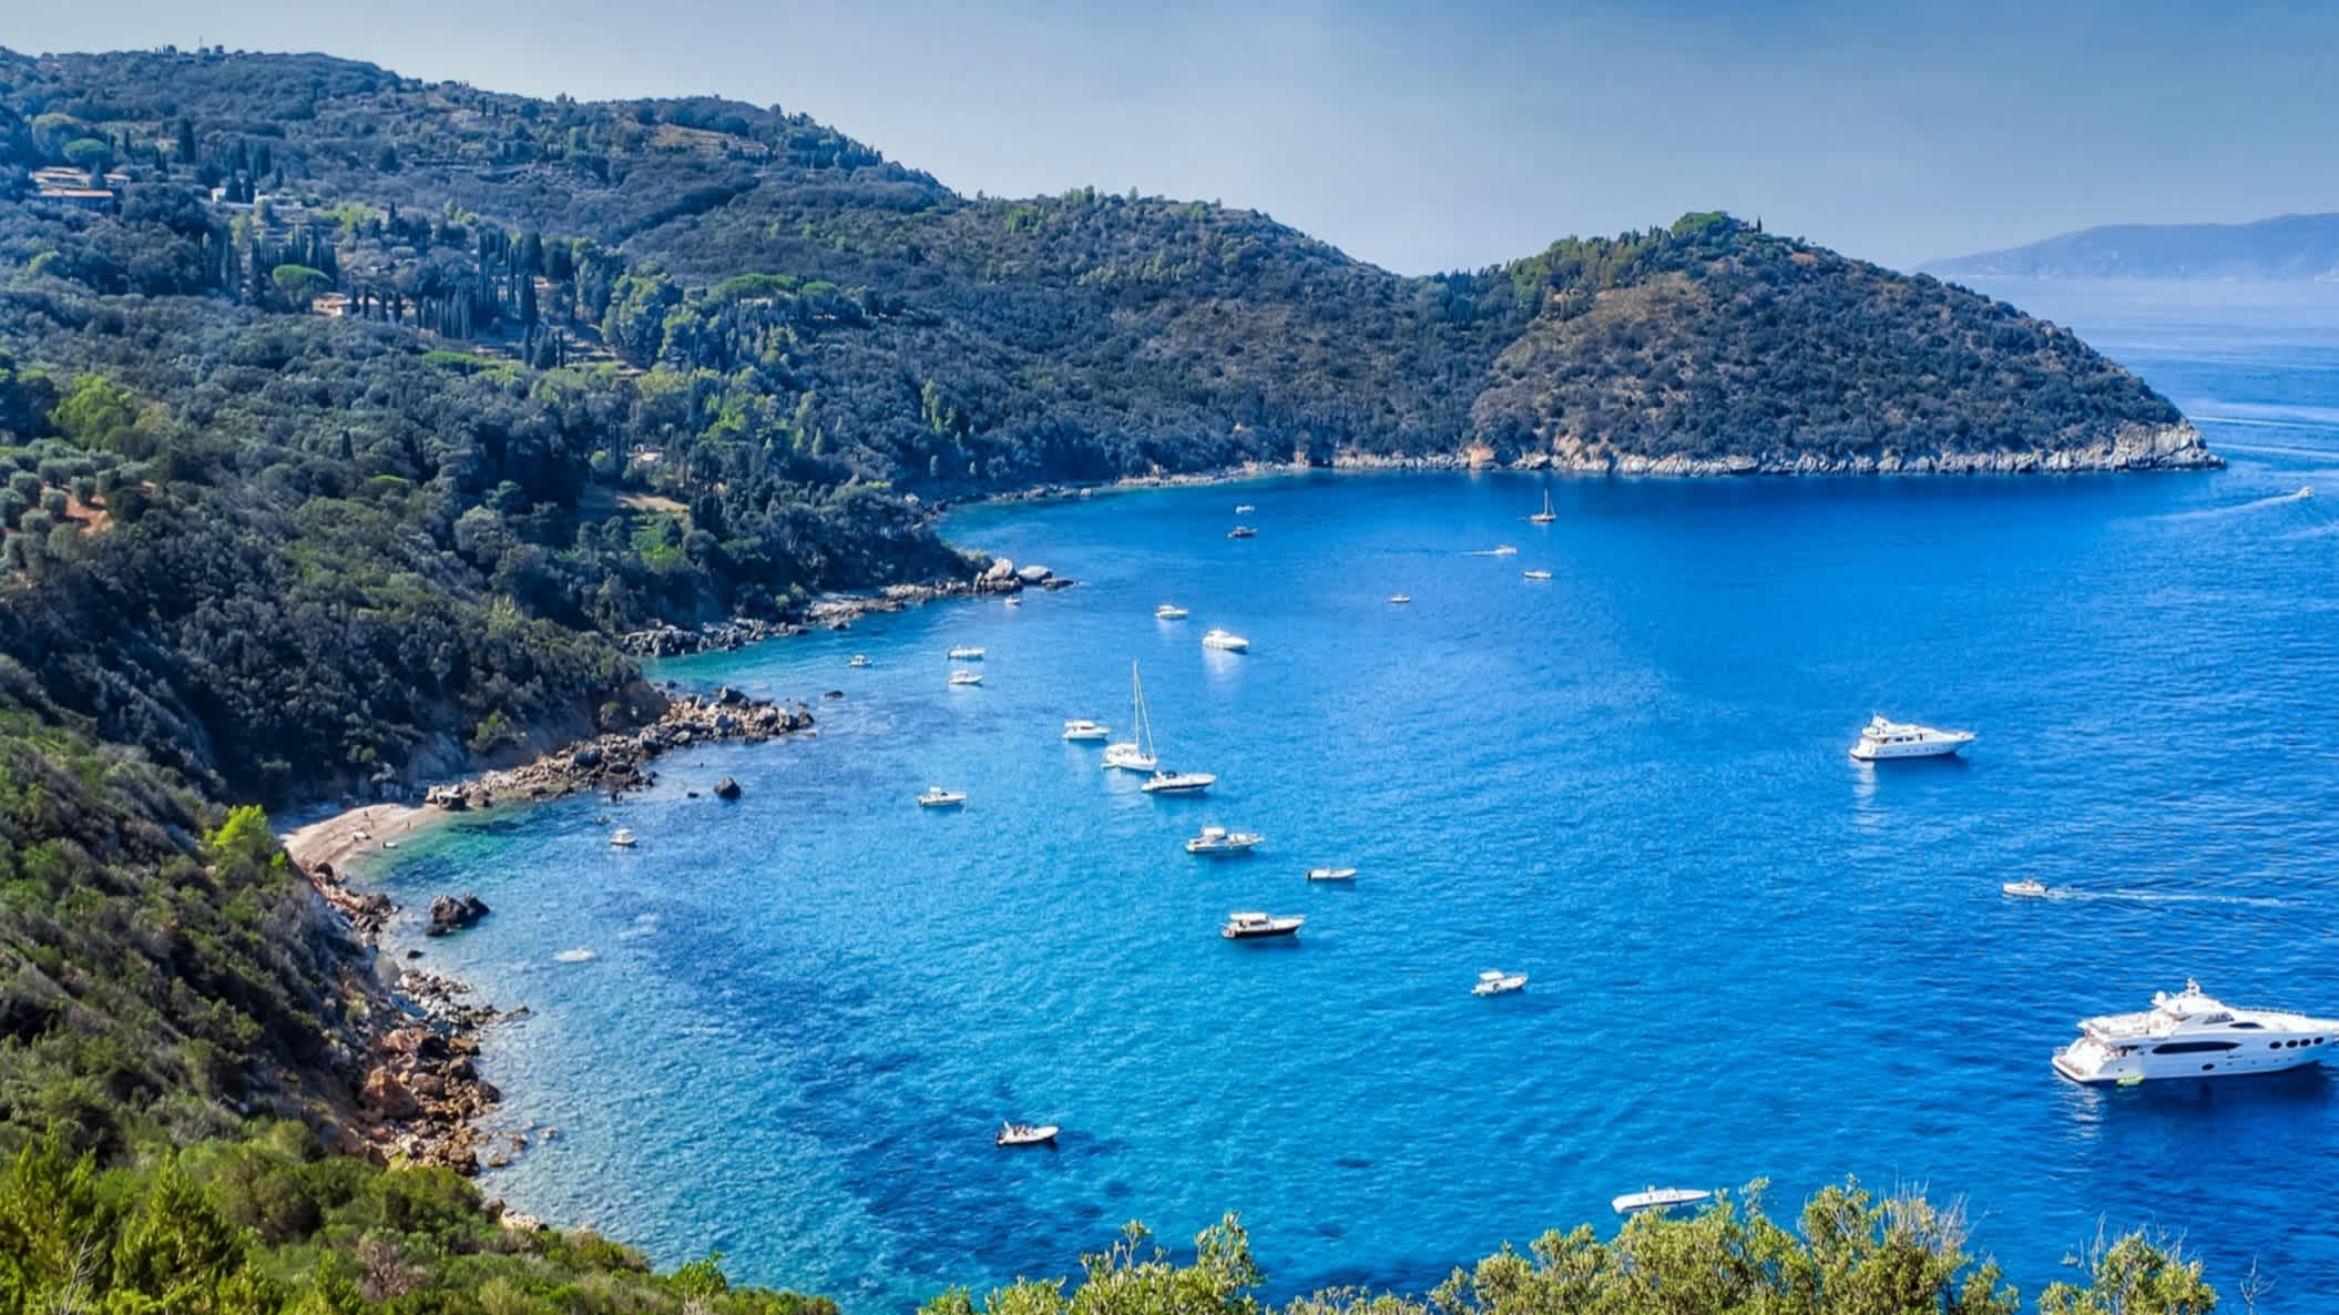
[[[2098,1093],[2047,1055],[2187,973],[2339,1011],[2339,316],[2049,309],[2231,470],[1562,480],[1553,526],[1520,519],[1534,480],[1460,475],[982,510],[961,543],[1083,585],[669,665],[847,697],[816,739],[470,819],[381,875],[494,903],[426,964],[533,1008],[489,1076],[559,1137],[489,1189],[865,1315],[1064,1273],[1127,1219],[1240,1210],[1277,1292],[1417,1289],[1649,1182],[1766,1177],[1789,1210],[1860,1175],[1965,1196],[2026,1294],[2103,1221],[2313,1308],[2339,1076]],[[1223,538],[1235,501],[1256,541]],[[1520,552],[1469,555],[1495,543]],[[952,643],[989,650],[980,690],[945,688]],[[1207,800],[1057,739],[1127,725],[1132,658]],[[1871,711],[1981,739],[1864,770]],[[720,774],[746,798],[685,798]],[[922,812],[929,782],[973,803]],[[1214,821],[1265,852],[1188,859]],[[1354,889],[1300,880],[1333,861]],[[2007,901],[2016,875],[2082,896]],[[1228,945],[1233,908],[1308,929]],[[1488,966],[1534,985],[1474,999]],[[1069,1132],[1001,1154],[1003,1116]]]

